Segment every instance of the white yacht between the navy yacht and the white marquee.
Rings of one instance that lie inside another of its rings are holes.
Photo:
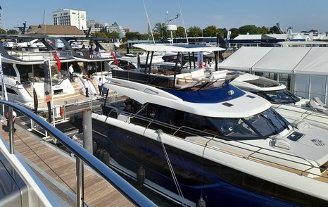
[[[304,120],[307,125],[317,125],[328,130],[328,108],[317,98],[305,99],[296,96],[289,92],[284,84],[249,73],[241,72],[232,84],[267,99],[279,114],[291,122]]]

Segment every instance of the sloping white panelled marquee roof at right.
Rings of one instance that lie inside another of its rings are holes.
[[[241,47],[220,70],[328,75],[328,47]]]

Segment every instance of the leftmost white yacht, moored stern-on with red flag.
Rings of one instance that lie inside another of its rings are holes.
[[[10,101],[34,109],[34,90],[39,99],[39,111],[46,110],[43,100],[44,60],[47,59],[50,61],[53,99],[75,94],[75,87],[67,78],[70,63],[75,65],[76,72],[78,69],[70,51],[56,51],[46,41],[46,36],[2,35],[0,39],[3,43],[0,44],[1,68]],[[16,43],[8,46],[6,42],[11,39],[15,39]],[[60,57],[61,70],[54,58],[55,54]]]

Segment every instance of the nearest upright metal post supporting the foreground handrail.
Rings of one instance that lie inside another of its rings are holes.
[[[77,206],[82,207],[84,204],[84,169],[83,161],[76,157],[76,199]]]

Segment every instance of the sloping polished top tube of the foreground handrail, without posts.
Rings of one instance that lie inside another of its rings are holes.
[[[132,187],[126,180],[120,177],[116,172],[108,168],[107,165],[99,161],[98,158],[93,156],[87,150],[83,149],[76,142],[66,136],[63,132],[47,123],[44,119],[32,113],[27,108],[20,106],[10,101],[0,100],[0,104],[4,104],[13,108],[16,112],[23,113],[28,118],[31,118],[39,126],[43,127],[44,130],[49,132],[54,138],[58,139],[68,150],[72,151],[78,158],[84,163],[87,163],[93,170],[99,173],[103,179],[111,183],[120,193],[122,193],[127,199],[135,203],[137,206],[156,206],[151,200],[149,200],[144,194],[141,194],[137,189]]]

